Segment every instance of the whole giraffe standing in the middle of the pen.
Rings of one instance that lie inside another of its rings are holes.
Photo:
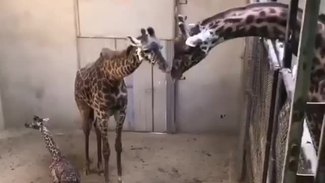
[[[127,90],[123,78],[132,74],[143,62],[151,64],[157,62],[159,69],[169,72],[170,67],[161,54],[161,46],[156,38],[154,29],[141,29],[142,35],[138,38],[127,37],[131,45],[122,51],[103,49],[96,62],[88,64],[77,71],[75,81],[75,100],[82,117],[83,132],[85,134],[85,168],[84,173],[89,173],[89,133],[93,121],[98,150],[98,169],[102,170],[103,140],[104,176],[109,182],[108,162],[110,146],[108,142],[107,123],[110,116],[116,120],[115,150],[117,154],[118,182],[122,182],[121,168],[121,131],[125,119],[127,105]],[[93,120],[95,118],[95,120]]]

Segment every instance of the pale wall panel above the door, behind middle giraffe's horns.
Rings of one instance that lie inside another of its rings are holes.
[[[152,26],[160,39],[171,40],[174,1],[78,0],[80,36],[124,38],[138,36],[138,27]]]

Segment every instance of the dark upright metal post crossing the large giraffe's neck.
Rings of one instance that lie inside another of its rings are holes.
[[[292,34],[296,31],[297,24],[297,11],[299,0],[291,0],[289,5],[289,16],[287,17],[286,30],[285,30],[285,43],[284,43],[284,68],[291,68],[291,60],[293,57],[292,45],[295,41],[296,34]]]

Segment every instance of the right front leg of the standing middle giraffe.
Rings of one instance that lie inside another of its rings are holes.
[[[115,139],[115,151],[116,151],[116,162],[117,162],[117,180],[119,183],[122,181],[122,166],[121,166],[121,152],[122,152],[122,129],[125,119],[125,111],[119,111],[115,115],[116,121],[116,139]]]

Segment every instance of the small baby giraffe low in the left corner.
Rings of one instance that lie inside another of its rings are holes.
[[[77,169],[69,162],[69,160],[61,155],[61,151],[55,144],[51,132],[44,126],[44,122],[49,118],[40,118],[34,115],[34,120],[25,123],[26,128],[39,130],[44,137],[46,148],[52,155],[52,163],[50,171],[52,173],[54,183],[80,183],[80,174]]]

